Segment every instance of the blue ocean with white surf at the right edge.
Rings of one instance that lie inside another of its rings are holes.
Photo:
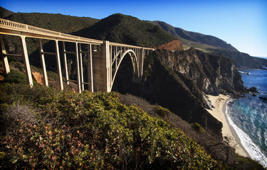
[[[226,115],[251,158],[267,167],[267,101],[262,99],[267,98],[267,70],[239,69],[239,72],[244,86],[255,86],[259,93],[229,101]]]

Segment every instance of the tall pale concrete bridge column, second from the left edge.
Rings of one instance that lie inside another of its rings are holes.
[[[26,46],[25,36],[23,35],[21,35],[21,45],[22,45],[22,56],[23,56],[26,77],[28,80],[28,84],[31,87],[33,87],[33,78],[31,77],[31,67],[30,67],[30,62],[28,61],[27,46]]]

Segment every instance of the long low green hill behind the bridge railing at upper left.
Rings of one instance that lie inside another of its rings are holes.
[[[93,26],[99,21],[95,18],[66,16],[53,13],[13,13],[6,19],[61,33],[72,33]]]

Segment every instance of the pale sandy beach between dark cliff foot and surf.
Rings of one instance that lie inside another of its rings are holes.
[[[246,152],[246,149],[243,147],[243,145],[241,145],[239,136],[236,134],[234,128],[229,124],[229,121],[226,117],[226,103],[227,101],[231,100],[230,96],[224,96],[222,94],[220,94],[219,96],[209,95],[209,100],[211,101],[211,104],[212,106],[214,106],[214,108],[212,108],[212,111],[207,111],[209,111],[209,113],[211,113],[214,118],[216,118],[223,124],[222,135],[226,137],[232,137],[234,139],[234,141],[231,142],[230,145],[235,145],[237,154],[240,154],[244,157],[250,157],[248,152]]]

